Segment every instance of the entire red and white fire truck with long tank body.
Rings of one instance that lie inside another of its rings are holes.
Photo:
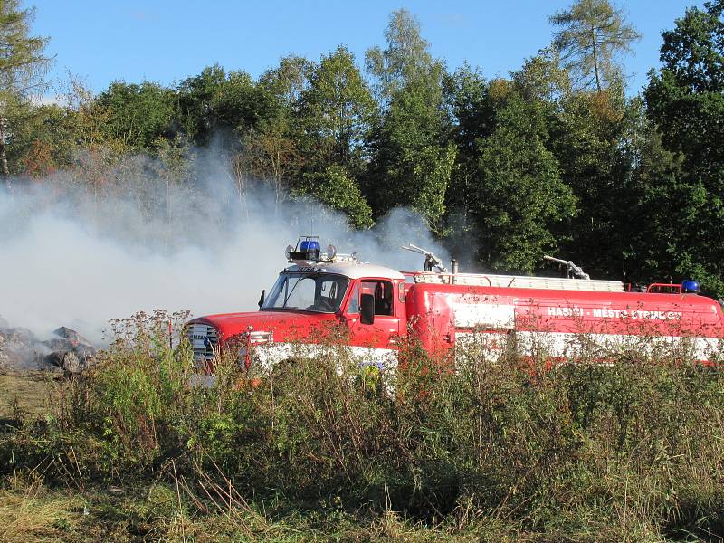
[[[424,254],[423,271],[364,263],[332,245],[322,252],[319,238],[301,237],[258,311],[188,323],[197,363],[213,371],[220,350],[233,348],[247,367],[271,367],[313,354],[334,327],[360,363],[379,367],[395,367],[411,336],[438,356],[477,349],[496,357],[513,346],[548,360],[605,360],[622,349],[718,359],[722,310],[699,295],[696,281],[633,291],[551,257],[566,278],[461,273],[454,261],[447,271],[432,252],[405,249]]]

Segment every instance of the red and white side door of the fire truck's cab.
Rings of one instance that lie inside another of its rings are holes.
[[[396,285],[386,279],[355,281],[349,296],[345,317],[348,321],[350,343],[353,347],[394,349],[400,334],[400,307],[395,296]],[[375,318],[371,324],[360,319],[362,295],[375,299]]]

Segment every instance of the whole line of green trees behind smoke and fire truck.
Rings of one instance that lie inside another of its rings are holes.
[[[364,62],[340,45],[319,60],[284,57],[257,79],[214,64],[168,87],[74,85],[62,105],[5,82],[15,99],[0,155],[8,183],[80,168],[102,186],[104,167],[148,154],[184,185],[195,149],[217,146],[240,194],[263,184],[280,202],[310,196],[358,229],[409,206],[488,270],[536,271],[553,253],[595,277],[691,277],[721,295],[722,11],[713,0],[672,22],[662,68],[633,98],[618,62],[639,34],[608,0],[553,14],[550,46],[506,78],[449,71],[399,10]],[[37,68],[45,42],[31,45]]]

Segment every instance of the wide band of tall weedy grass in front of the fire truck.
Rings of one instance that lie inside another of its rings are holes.
[[[367,536],[724,535],[719,367],[628,353],[551,368],[514,349],[471,349],[451,366],[411,345],[393,372],[360,367],[331,340],[270,371],[223,354],[205,388],[189,384],[191,350],[169,345],[167,323],[117,323],[62,409],[6,427],[5,476],[79,489],[167,481],[182,509],[207,513],[216,485],[226,501],[262,504],[246,521],[320,510],[366,519]]]

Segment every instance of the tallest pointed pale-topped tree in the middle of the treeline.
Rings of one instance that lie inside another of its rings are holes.
[[[443,100],[444,66],[433,60],[409,12],[393,12],[385,35],[384,51],[367,52],[367,71],[385,110],[368,143],[365,194],[377,215],[409,205],[442,234],[455,154]]]

